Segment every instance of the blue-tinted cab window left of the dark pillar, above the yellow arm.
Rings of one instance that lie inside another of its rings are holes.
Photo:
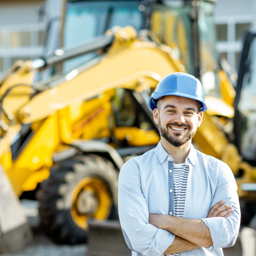
[[[143,25],[143,15],[139,6],[139,0],[66,1],[60,46],[70,48],[83,44],[105,34],[109,29],[114,30],[116,26],[130,25],[139,31]],[[97,55],[97,52],[93,52],[65,61],[62,71],[68,72]]]

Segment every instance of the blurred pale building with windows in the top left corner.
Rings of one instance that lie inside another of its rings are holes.
[[[44,5],[42,0],[0,0],[0,79],[15,61],[42,53]]]

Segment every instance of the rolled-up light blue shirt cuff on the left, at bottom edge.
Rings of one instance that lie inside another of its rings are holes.
[[[144,255],[160,256],[173,243],[175,235],[164,229],[158,229],[153,242],[150,244]]]

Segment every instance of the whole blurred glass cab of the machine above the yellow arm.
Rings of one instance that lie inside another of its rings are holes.
[[[151,33],[151,40],[170,46],[181,60],[184,71],[202,76],[203,83],[208,81],[204,83],[205,90],[219,95],[219,86],[215,86],[219,82],[215,78],[219,67],[214,50],[213,11],[214,1],[68,0],[65,1],[60,42],[56,47],[78,46],[118,27],[133,26],[137,32],[150,30],[155,34]],[[46,48],[49,40],[46,39]],[[61,71],[71,71],[97,54],[94,52],[68,60]]]

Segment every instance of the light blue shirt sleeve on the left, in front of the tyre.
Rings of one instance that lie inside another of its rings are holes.
[[[120,170],[118,214],[125,241],[132,251],[160,256],[172,244],[175,235],[148,223],[148,206],[143,195],[138,167],[131,161]]]

